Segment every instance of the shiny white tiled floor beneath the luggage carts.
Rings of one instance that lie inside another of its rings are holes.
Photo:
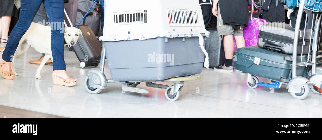
[[[35,79],[38,65],[27,61],[41,54],[31,48],[17,58],[16,79],[0,78],[0,105],[65,117],[322,117],[321,95],[310,92],[306,99],[297,100],[285,86],[275,91],[249,89],[244,73],[212,69],[204,69],[200,80],[185,82],[182,96],[175,102],[165,98],[163,89],[147,88],[147,95],[123,94],[118,83],[109,83],[101,94],[90,95],[83,84],[90,68],[81,69],[74,52],[65,49],[68,73],[78,79],[76,87],[52,85],[52,66],[44,66],[42,80]],[[110,77],[108,69],[105,74]]]

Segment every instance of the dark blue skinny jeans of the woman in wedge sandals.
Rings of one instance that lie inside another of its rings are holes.
[[[52,27],[52,69],[53,71],[66,70],[64,60],[64,0],[21,0],[19,20],[10,34],[2,59],[7,62],[12,61],[20,39],[29,29],[42,2],[45,5]],[[45,25],[45,23],[43,24]],[[45,47],[47,44],[43,45]]]

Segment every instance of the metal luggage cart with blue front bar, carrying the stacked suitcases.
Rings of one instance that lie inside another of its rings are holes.
[[[304,43],[302,43],[302,53],[301,53],[301,61],[298,62],[298,43],[293,43],[293,54],[292,58],[289,59],[288,61],[292,61],[292,70],[291,70],[291,75],[290,79],[281,79],[280,81],[276,80],[271,80],[272,83],[264,83],[264,82],[259,82],[259,79],[255,75],[251,75],[249,73],[246,73],[247,77],[247,85],[250,88],[256,88],[257,86],[263,86],[263,87],[268,87],[268,88],[274,88],[274,89],[279,89],[282,84],[287,85],[287,89],[290,92],[291,96],[296,99],[305,99],[308,96],[309,90],[311,89],[315,94],[321,94],[318,91],[314,89],[313,86],[317,86],[318,88],[322,88],[322,68],[318,67],[321,63],[322,55],[318,55],[318,48],[320,46],[320,36],[321,36],[321,14],[316,13],[316,12],[321,12],[321,10],[314,9],[314,8],[308,8],[305,6],[306,0],[298,1],[298,7],[299,11],[310,11],[314,12],[313,20],[315,19],[315,26],[314,26],[314,37],[313,37],[313,43],[312,43],[312,48],[311,45],[309,47],[309,53],[308,53],[308,58],[307,61],[302,60],[303,56],[303,47]],[[320,5],[320,4],[319,4]],[[322,6],[322,5],[321,5]],[[299,35],[299,29],[300,29],[300,22],[301,22],[301,17],[302,17],[303,12],[298,12],[298,17],[297,17],[297,22],[296,22],[296,27],[295,27],[295,35],[294,35],[294,41],[293,42],[298,42],[298,35]],[[307,21],[307,16],[306,16],[306,21]],[[313,23],[312,22],[312,28],[313,28]],[[306,27],[305,27],[306,28]],[[311,32],[313,30],[311,29]],[[311,33],[312,34],[312,33]],[[304,39],[303,39],[304,41]],[[311,40],[310,40],[311,42]],[[298,76],[297,75],[297,68],[298,67],[309,67],[311,70],[308,72],[308,77],[303,77],[303,76]]]

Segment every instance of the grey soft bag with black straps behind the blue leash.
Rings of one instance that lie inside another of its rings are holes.
[[[93,4],[92,0],[78,0],[78,8],[76,14],[76,23],[78,24],[83,16],[87,13],[90,6]],[[90,12],[84,18],[84,20],[80,23],[80,25],[88,25],[92,29],[95,35],[97,35],[99,31],[100,24],[100,5],[96,2],[91,8]]]

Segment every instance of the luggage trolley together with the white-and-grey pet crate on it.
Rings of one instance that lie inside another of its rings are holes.
[[[124,91],[148,94],[147,89],[137,88],[146,82],[147,87],[166,89],[166,98],[175,101],[184,81],[200,79],[197,74],[205,56],[207,60],[204,40],[209,32],[198,1],[108,0],[104,7],[99,69],[87,70],[84,81],[89,93],[98,94],[108,83],[117,82]],[[103,73],[105,57],[111,79]]]

